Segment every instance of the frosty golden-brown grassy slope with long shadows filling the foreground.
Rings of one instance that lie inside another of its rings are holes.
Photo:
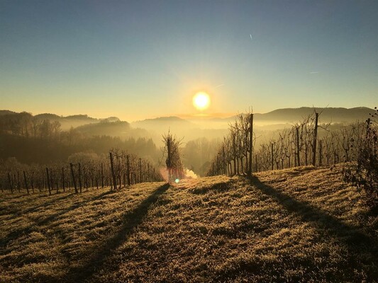
[[[340,168],[0,199],[0,282],[374,282],[378,220]]]

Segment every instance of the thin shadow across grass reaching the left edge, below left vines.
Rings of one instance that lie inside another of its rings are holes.
[[[45,219],[32,220],[33,224],[30,224],[27,227],[24,227],[24,228],[21,228],[21,229],[16,229],[16,230],[9,232],[8,235],[6,235],[4,238],[0,238],[0,255],[1,255],[1,248],[4,248],[10,241],[14,241],[22,235],[31,233],[31,232],[35,231],[35,229],[37,229],[38,226],[48,224],[49,222],[57,219],[57,217],[62,216],[63,214],[66,214],[67,212],[71,212],[72,210],[77,209],[79,207],[82,207],[82,205],[87,203],[87,202],[93,202],[95,200],[99,200],[99,199],[101,199],[101,197],[104,197],[104,195],[109,195],[110,193],[113,193],[113,191],[109,190],[109,191],[106,191],[106,192],[102,192],[100,195],[96,195],[95,197],[91,197],[90,199],[83,200],[82,202],[76,202],[76,203],[70,205],[70,207],[67,207],[66,209],[60,210],[60,212],[49,215]],[[63,198],[65,198],[65,197],[60,197],[60,200],[63,199]],[[57,199],[55,199],[55,200],[57,200]],[[53,200],[51,202],[53,203]],[[43,207],[43,205],[38,205],[37,207],[40,208],[40,207]],[[30,210],[29,210],[29,212],[30,212]],[[23,212],[23,214],[26,214],[26,213],[27,213],[26,211]],[[18,216],[21,216],[21,214],[18,215]]]

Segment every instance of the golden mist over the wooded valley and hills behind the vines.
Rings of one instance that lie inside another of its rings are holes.
[[[350,121],[362,121],[369,108],[325,108],[320,122],[338,129]],[[313,108],[282,109],[255,114],[255,149],[276,139]],[[242,114],[243,115],[243,114]],[[282,120],[277,120],[279,117]],[[174,134],[180,141],[182,163],[197,176],[209,170],[211,158],[219,150],[228,127],[236,115],[226,118],[157,117],[135,122],[117,117],[94,118],[88,115],[62,117],[54,114],[0,111],[0,159],[19,163],[50,164],[69,162],[77,154],[104,156],[110,149],[121,149],[146,158],[154,166],[164,166],[162,134]],[[322,128],[320,135],[322,136]]]

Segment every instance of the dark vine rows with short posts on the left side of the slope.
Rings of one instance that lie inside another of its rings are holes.
[[[9,192],[82,192],[89,187],[110,186],[112,190],[136,183],[162,181],[160,171],[144,158],[113,149],[109,156],[92,159],[77,156],[76,162],[50,166],[27,166],[16,162],[1,168],[1,191]]]

